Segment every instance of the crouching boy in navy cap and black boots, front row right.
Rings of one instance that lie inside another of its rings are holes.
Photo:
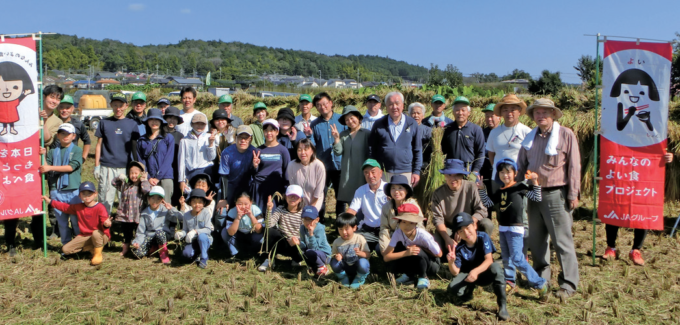
[[[506,307],[505,276],[503,267],[493,262],[492,254],[496,248],[485,232],[477,232],[472,217],[458,213],[455,218],[455,231],[461,238],[456,247],[449,247],[446,259],[454,278],[447,291],[461,302],[472,299],[475,286],[491,284],[498,303],[498,318],[507,320],[510,315]]]

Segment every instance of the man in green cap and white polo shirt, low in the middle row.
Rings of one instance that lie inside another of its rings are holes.
[[[382,179],[382,169],[375,159],[366,159],[361,169],[364,172],[366,184],[361,185],[354,192],[354,198],[347,213],[356,215],[361,212],[362,219],[359,221],[357,232],[366,238],[368,247],[375,250],[380,234],[382,206],[387,203],[384,190],[387,183]],[[379,249],[376,250],[376,252],[379,251]]]

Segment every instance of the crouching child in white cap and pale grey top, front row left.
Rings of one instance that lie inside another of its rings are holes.
[[[149,206],[140,215],[137,235],[132,241],[132,253],[143,258],[150,249],[151,253],[159,250],[161,262],[167,265],[170,264],[167,238],[172,238],[170,223],[177,223],[182,213],[165,201],[165,190],[160,186],[151,188],[147,200]]]

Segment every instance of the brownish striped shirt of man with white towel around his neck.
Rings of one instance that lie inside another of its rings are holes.
[[[560,134],[557,144],[557,155],[545,154],[550,132],[545,136],[540,129],[534,138],[534,144],[530,150],[524,147],[519,151],[517,158],[517,180],[524,179],[524,174],[530,170],[538,174],[538,183],[543,189],[550,187],[566,186],[567,200],[576,200],[581,191],[581,153],[574,132],[564,126],[560,126]]]

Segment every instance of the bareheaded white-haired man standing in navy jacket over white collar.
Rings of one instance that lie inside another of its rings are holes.
[[[385,96],[387,114],[373,124],[368,139],[369,156],[385,167],[385,181],[404,175],[416,186],[423,165],[423,143],[418,123],[404,115],[404,95],[393,91]]]

